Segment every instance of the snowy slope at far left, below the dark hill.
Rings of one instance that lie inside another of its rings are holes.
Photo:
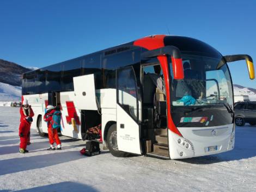
[[[21,87],[0,82],[0,101],[21,101]]]

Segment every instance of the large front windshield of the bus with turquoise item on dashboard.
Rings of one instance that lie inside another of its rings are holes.
[[[172,106],[217,107],[233,105],[233,91],[227,65],[222,57],[212,58],[203,54],[182,54],[184,79],[173,79]],[[170,63],[170,74],[172,64]]]

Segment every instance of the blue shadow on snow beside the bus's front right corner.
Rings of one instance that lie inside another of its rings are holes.
[[[236,127],[235,135],[235,148],[232,151],[210,156],[180,159],[180,161],[192,164],[212,164],[256,157],[256,128],[253,126]]]

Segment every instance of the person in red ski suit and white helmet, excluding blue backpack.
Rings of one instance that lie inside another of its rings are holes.
[[[47,150],[55,150],[54,142],[57,144],[57,150],[62,149],[62,145],[58,136],[58,131],[57,129],[52,128],[52,116],[55,111],[56,110],[54,109],[53,106],[47,106],[46,113],[44,115],[44,121],[47,122],[47,127],[48,127],[49,143],[51,145],[49,148],[47,148]]]

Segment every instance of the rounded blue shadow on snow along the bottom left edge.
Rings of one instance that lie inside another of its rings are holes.
[[[8,192],[8,191],[13,191],[13,190],[0,190],[0,192]],[[40,187],[34,187],[30,189],[17,190],[15,192],[45,192],[45,191],[97,192],[96,189],[94,189],[89,185],[82,184],[82,183],[75,183],[75,182],[60,182],[60,183],[54,183],[54,184],[44,185]]]

